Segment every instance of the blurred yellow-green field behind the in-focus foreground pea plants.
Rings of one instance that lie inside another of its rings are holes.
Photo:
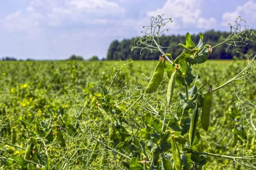
[[[72,135],[80,131],[77,129],[79,124],[82,123],[79,120],[82,120],[82,115],[86,113],[86,110],[97,110],[94,96],[101,93],[102,89],[109,87],[112,81],[111,73],[114,66],[118,65],[117,63],[119,62],[121,61],[1,61],[1,140],[10,143],[11,131],[16,129],[16,145],[25,147],[26,140],[30,136],[36,135],[35,125],[48,126],[50,121],[52,124],[57,124],[64,128],[63,134],[66,143],[72,146],[75,142]],[[126,63],[128,61],[123,62]],[[193,66],[193,74],[199,73],[201,75],[200,84],[209,81],[215,88],[227,81],[225,77],[232,77],[239,73],[246,66],[246,62],[246,60],[208,60],[201,64],[200,68],[197,65]],[[131,62],[120,71],[116,81],[114,81],[113,87],[119,88],[110,90],[109,95],[121,101],[123,100],[122,96],[129,95],[127,91],[133,88],[134,84],[135,88],[138,83],[142,87],[146,86],[145,83],[148,83],[148,78],[150,78],[156,64],[156,61]],[[165,93],[166,89],[164,88],[167,86],[168,81],[169,79],[165,73],[164,81],[159,87],[163,89],[163,93]],[[244,108],[246,111],[243,111],[243,107],[241,110],[244,100],[239,102],[237,97],[232,95],[233,91],[234,85],[229,84],[213,93],[214,103],[212,105],[210,129],[207,133],[200,130],[202,131],[201,140],[198,145],[193,146],[194,149],[202,152],[240,156],[239,149],[246,147],[248,136],[255,135],[256,131],[251,124],[251,121],[255,121],[255,105],[249,104]],[[243,94],[248,102],[255,103],[256,91],[253,86],[236,89],[236,92],[237,96]],[[174,98],[179,100],[179,93],[179,89],[176,88],[174,90]],[[132,96],[130,100],[132,103]],[[232,129],[235,124],[238,124],[240,138],[232,146],[234,140]],[[52,129],[52,131],[54,130]],[[57,154],[59,148],[58,144],[56,144],[57,139],[55,136],[53,135],[49,142],[42,142],[39,153],[44,155],[48,151],[48,154],[50,153],[51,155],[48,156],[51,163],[61,167],[64,163],[59,162],[58,159],[62,158],[63,155]],[[40,138],[38,140],[40,141]],[[255,138],[252,140],[255,140]],[[44,149],[43,145],[47,149]],[[0,147],[1,157],[9,158],[11,153],[16,156],[24,154],[22,149],[20,150],[4,143],[0,143]],[[83,150],[81,150],[82,152]],[[85,150],[84,152],[87,151]],[[243,153],[244,155],[247,153],[255,155],[256,150],[254,146],[251,148],[250,145],[250,148],[244,150]],[[85,159],[85,155],[81,159],[78,157],[74,165],[86,167],[81,163]],[[99,158],[96,157],[95,160],[97,159]],[[232,162],[223,160],[208,157],[208,163],[204,168],[227,168],[216,166],[214,162],[223,166],[233,166]],[[65,160],[63,161],[65,162]]]

